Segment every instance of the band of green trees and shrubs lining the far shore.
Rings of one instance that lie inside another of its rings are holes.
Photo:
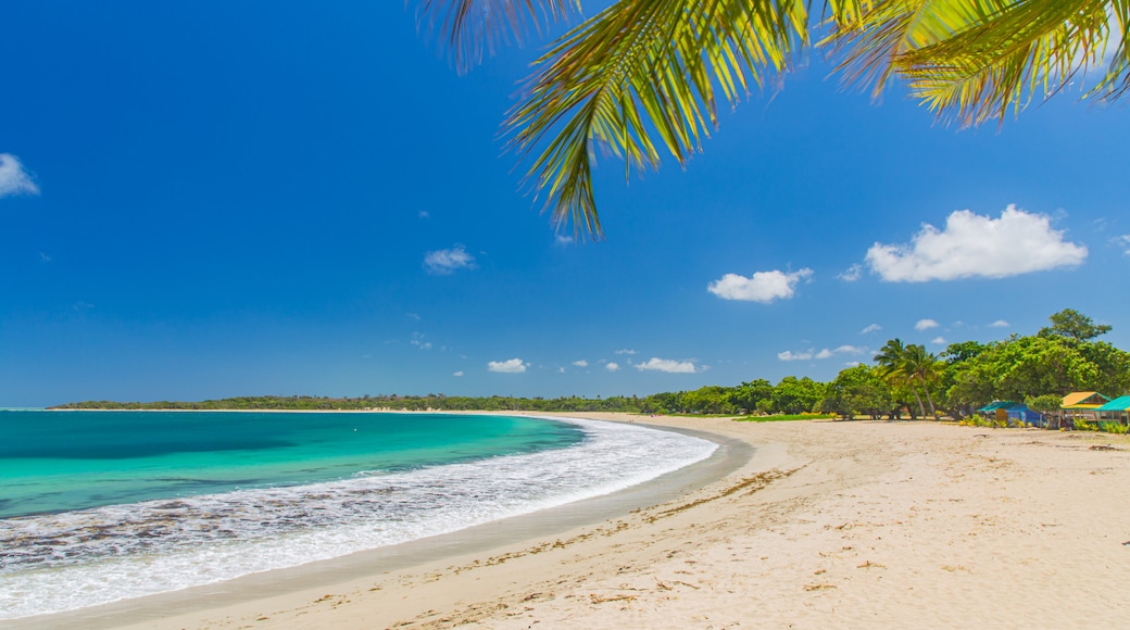
[[[776,384],[757,378],[734,386],[646,396],[601,399],[562,396],[449,396],[380,394],[359,397],[245,396],[202,402],[67,403],[52,409],[122,410],[295,410],[295,411],[556,411],[703,415],[757,415],[781,419],[824,417],[910,419],[949,417],[976,422],[977,409],[993,401],[1019,401],[1034,411],[1058,413],[1070,392],[1130,393],[1130,352],[1096,338],[1111,326],[1095,324],[1074,309],[1055,313],[1033,335],[1001,341],[950,343],[940,353],[892,339],[873,364],[844,368],[828,383],[786,376]],[[988,420],[986,420],[988,421]],[[1087,428],[1085,421],[1077,421]],[[1095,422],[1103,429],[1103,422]]]

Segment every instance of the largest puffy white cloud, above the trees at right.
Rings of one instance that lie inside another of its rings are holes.
[[[888,282],[959,278],[1008,278],[1060,266],[1077,266],[1087,247],[1063,240],[1051,218],[1009,205],[999,219],[956,210],[946,229],[923,224],[910,245],[876,243],[867,251],[871,270]]]

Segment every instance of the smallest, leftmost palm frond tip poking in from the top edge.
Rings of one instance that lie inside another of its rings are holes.
[[[494,54],[511,38],[521,42],[531,27],[581,11],[581,0],[419,0],[417,25],[428,37],[440,36],[457,68],[466,70]]]

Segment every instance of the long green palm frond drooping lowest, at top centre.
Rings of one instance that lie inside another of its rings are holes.
[[[685,163],[736,103],[805,42],[803,0],[619,0],[534,62],[506,128],[511,148],[544,146],[528,177],[559,227],[602,236],[592,191],[596,148],[625,172]]]

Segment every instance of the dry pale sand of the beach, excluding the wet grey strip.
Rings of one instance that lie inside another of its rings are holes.
[[[1120,436],[633,420],[706,431],[756,453],[702,488],[598,523],[419,554],[392,570],[323,571],[282,592],[229,593],[124,625],[1127,624],[1130,440]]]

